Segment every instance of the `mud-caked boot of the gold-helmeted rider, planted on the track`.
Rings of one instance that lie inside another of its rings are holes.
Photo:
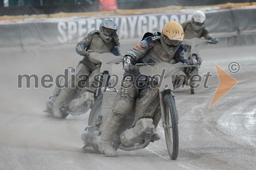
[[[112,147],[111,142],[114,139],[114,136],[117,133],[119,125],[122,123],[122,118],[114,115],[113,111],[110,113],[106,123],[103,127],[100,141],[99,141],[99,150],[108,157],[117,157],[117,151]]]

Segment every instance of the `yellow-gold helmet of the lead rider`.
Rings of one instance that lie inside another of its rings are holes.
[[[184,31],[180,23],[172,20],[163,26],[161,43],[167,54],[173,55],[184,38]]]

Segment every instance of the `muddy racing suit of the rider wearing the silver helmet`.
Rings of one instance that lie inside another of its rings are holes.
[[[116,37],[118,38],[118,37]],[[94,51],[111,51],[114,55],[119,56],[120,50],[119,50],[119,41],[118,39],[113,39],[110,42],[105,42],[101,37],[99,31],[95,30],[91,33],[89,33],[86,37],[84,37],[77,45],[76,45],[76,52],[84,56],[82,61],[79,62],[77,68],[76,68],[76,75],[75,75],[75,81],[69,82],[69,88],[63,88],[59,95],[57,96],[54,106],[53,106],[53,112],[57,109],[61,109],[62,105],[66,102],[66,100],[72,96],[78,87],[82,87],[81,84],[86,81],[88,76],[92,73],[92,71],[96,70],[99,66],[97,61],[90,57],[90,54],[87,53],[87,50],[94,50]],[[79,76],[80,75],[80,76]],[[84,75],[84,76],[82,76]],[[83,81],[79,81],[83,80]],[[72,85],[71,85],[72,83]],[[71,88],[76,87],[76,88]],[[91,98],[94,100],[94,92],[96,89],[89,88],[88,91],[91,91],[91,93],[88,93],[90,96],[87,96],[88,98]],[[58,110],[59,111],[59,110]],[[57,114],[55,117],[61,117],[61,115]]]

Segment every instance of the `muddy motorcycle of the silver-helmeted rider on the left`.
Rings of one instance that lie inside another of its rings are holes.
[[[94,59],[94,62],[97,62],[97,69],[95,69],[90,74],[90,79],[88,78],[86,80],[85,85],[82,88],[77,88],[76,92],[73,96],[70,96],[70,98],[63,104],[61,110],[64,114],[63,118],[70,115],[80,115],[86,113],[89,109],[92,108],[94,101],[96,101],[101,95],[102,90],[101,88],[109,86],[110,85],[110,79],[111,79],[111,72],[112,72],[112,64],[119,64],[122,62],[123,57],[122,56],[115,56],[109,51],[87,51],[88,55],[90,55],[90,58]],[[75,75],[75,69],[69,68],[68,74],[69,77],[71,74]],[[68,81],[64,78],[61,78],[59,80],[59,84],[65,84],[68,83]],[[94,93],[94,96],[90,96],[90,92],[88,92],[89,86],[91,84],[97,85],[97,90]],[[61,88],[55,87],[53,91],[53,95],[50,96],[50,98],[46,102],[47,110],[46,112],[52,113],[53,104],[59,95],[61,91]],[[71,106],[72,103],[72,106]],[[74,104],[75,103],[75,104]]]

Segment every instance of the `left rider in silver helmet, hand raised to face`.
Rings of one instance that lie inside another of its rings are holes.
[[[95,59],[90,57],[90,54],[87,52],[88,50],[94,51],[110,51],[114,55],[119,56],[119,39],[117,36],[117,24],[110,19],[103,20],[100,23],[99,31],[95,30],[85,36],[77,45],[76,52],[83,56],[82,61],[79,62],[76,68],[76,76],[74,82],[75,87],[81,87],[81,81],[79,79],[83,79],[86,81],[86,78],[97,68],[97,62]],[[87,75],[84,77],[78,77],[79,75]],[[59,95],[57,96],[55,103],[53,105],[53,114],[57,118],[61,118],[62,111],[61,107],[65,103],[65,101],[72,95],[74,95],[76,88],[71,88],[74,86],[70,86],[69,88],[63,88]],[[91,91],[90,91],[91,90]],[[88,98],[94,99],[94,92],[96,89],[90,88]]]

